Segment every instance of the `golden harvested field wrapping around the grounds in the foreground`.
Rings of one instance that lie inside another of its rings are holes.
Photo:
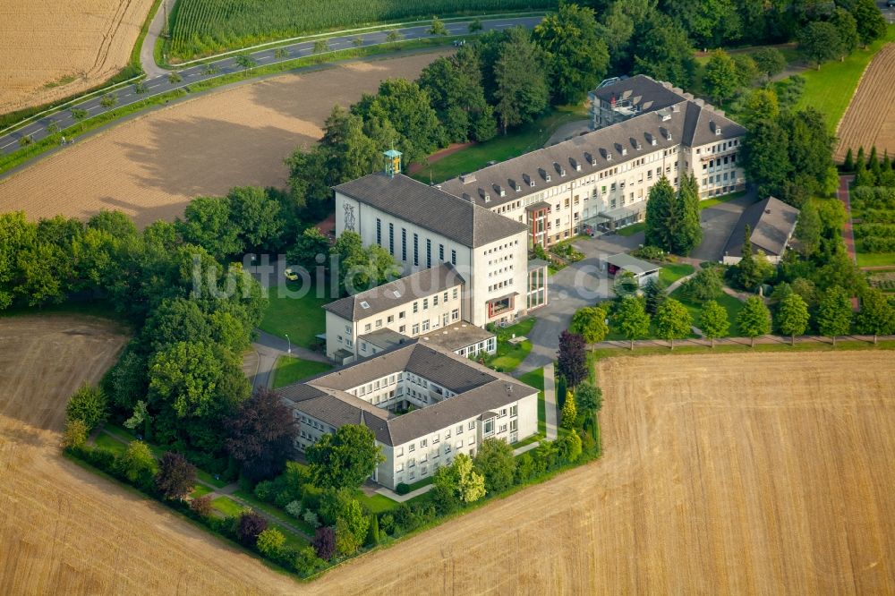
[[[2,593],[895,592],[889,352],[602,362],[601,461],[301,584],[57,455],[63,336],[0,321]]]

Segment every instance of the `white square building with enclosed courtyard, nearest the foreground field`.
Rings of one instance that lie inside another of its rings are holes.
[[[345,424],[372,430],[385,456],[372,480],[390,489],[474,456],[486,438],[515,443],[538,430],[537,389],[420,340],[278,392],[299,450]]]

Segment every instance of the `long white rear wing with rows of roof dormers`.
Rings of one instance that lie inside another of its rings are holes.
[[[592,132],[461,175],[439,189],[524,224],[548,246],[644,217],[650,187],[693,174],[700,196],[742,190],[746,129],[644,75],[592,91]]]

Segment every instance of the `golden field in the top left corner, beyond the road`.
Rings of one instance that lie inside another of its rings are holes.
[[[2,0],[0,114],[96,87],[127,65],[152,0]]]

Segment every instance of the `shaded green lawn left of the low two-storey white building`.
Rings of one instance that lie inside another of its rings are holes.
[[[286,289],[292,292],[297,293],[300,288],[299,282],[286,282]],[[259,327],[275,336],[288,335],[295,345],[310,347],[314,337],[327,330],[326,316],[321,307],[331,300],[326,295],[318,296],[316,287],[301,298],[279,295],[279,289],[270,288],[270,304]]]

